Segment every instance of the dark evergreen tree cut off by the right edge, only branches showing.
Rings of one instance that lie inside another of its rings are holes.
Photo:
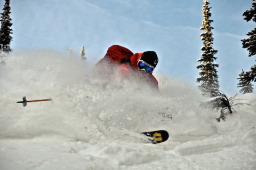
[[[252,8],[250,10],[246,10],[243,13],[244,20],[247,22],[252,20],[253,22],[256,22],[256,0],[253,0],[252,2]],[[243,42],[243,48],[247,48],[249,51],[249,56],[256,54],[256,28],[254,28],[252,31],[246,34],[247,36],[250,36],[249,38],[242,39]],[[246,83],[247,85],[250,84],[250,82],[256,82],[256,64],[251,67],[251,71],[246,71],[244,76],[241,77],[241,81],[243,83]]]

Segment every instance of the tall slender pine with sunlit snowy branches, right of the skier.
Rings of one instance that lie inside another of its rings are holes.
[[[202,91],[202,94],[205,96],[213,96],[215,93],[212,93],[213,91],[219,90],[219,81],[218,81],[218,75],[216,67],[219,67],[219,64],[213,63],[214,60],[217,59],[214,55],[217,54],[217,50],[214,50],[212,47],[213,44],[213,37],[212,37],[212,29],[211,23],[213,20],[210,19],[211,7],[209,6],[210,2],[208,0],[203,1],[203,23],[200,30],[204,30],[204,33],[200,35],[203,46],[201,47],[201,50],[203,51],[202,56],[200,59],[197,60],[197,62],[200,62],[202,64],[199,64],[196,66],[197,69],[201,69],[199,71],[199,75],[201,77],[197,78],[196,81],[198,83],[202,82],[201,85],[199,85],[199,89]]]

